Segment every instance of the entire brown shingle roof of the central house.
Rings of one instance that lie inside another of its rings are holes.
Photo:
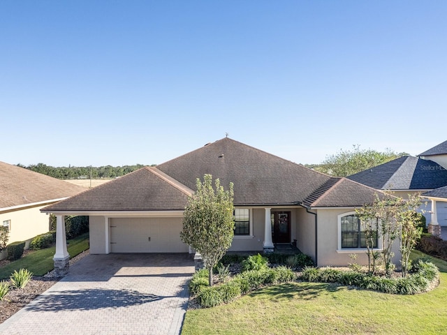
[[[156,166],[142,168],[44,211],[183,210],[205,174],[234,184],[235,206],[362,206],[372,188],[333,178],[228,137]]]

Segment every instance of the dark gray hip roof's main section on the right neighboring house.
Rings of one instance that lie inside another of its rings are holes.
[[[447,185],[447,170],[438,163],[404,156],[347,177],[378,190],[427,190]]]

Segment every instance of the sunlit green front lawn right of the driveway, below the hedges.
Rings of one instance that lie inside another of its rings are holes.
[[[447,334],[447,262],[432,261],[441,283],[421,295],[286,283],[231,304],[187,311],[182,334]]]

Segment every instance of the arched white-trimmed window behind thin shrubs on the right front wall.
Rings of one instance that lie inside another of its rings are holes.
[[[375,223],[362,223],[356,214],[349,214],[339,218],[341,241],[340,246],[344,248],[366,248],[370,243],[367,232],[372,232],[372,246],[377,248],[377,225]]]

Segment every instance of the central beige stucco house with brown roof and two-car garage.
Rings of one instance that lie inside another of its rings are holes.
[[[355,209],[374,188],[286,161],[230,138],[156,167],[146,167],[45,207],[62,226],[65,215],[88,215],[91,253],[186,253],[179,232],[189,195],[204,174],[234,184],[235,236],[230,251],[295,244],[319,265],[366,262]],[[59,230],[64,232],[63,229]],[[59,236],[55,266],[68,254]],[[380,246],[379,246],[380,247]],[[60,263],[60,264],[59,264]]]

